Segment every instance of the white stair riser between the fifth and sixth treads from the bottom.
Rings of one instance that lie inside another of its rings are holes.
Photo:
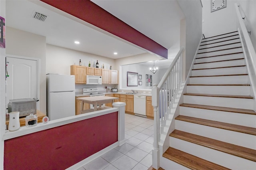
[[[220,82],[222,83],[222,82]],[[250,86],[221,86],[221,85],[188,85],[187,93],[222,94],[222,95],[250,95]]]

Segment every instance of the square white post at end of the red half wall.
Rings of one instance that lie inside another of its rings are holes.
[[[118,146],[121,146],[125,143],[124,138],[124,114],[125,114],[125,105],[123,102],[112,103],[112,106],[118,109]]]

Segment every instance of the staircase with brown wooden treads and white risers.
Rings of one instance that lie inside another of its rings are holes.
[[[256,112],[238,32],[200,43],[160,166],[256,169]]]

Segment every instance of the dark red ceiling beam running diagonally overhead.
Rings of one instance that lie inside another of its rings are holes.
[[[41,0],[102,30],[168,58],[168,50],[90,0]]]

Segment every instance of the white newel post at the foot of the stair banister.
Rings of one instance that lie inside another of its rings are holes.
[[[157,84],[154,84],[152,89],[152,106],[154,107],[154,142],[152,150],[152,167],[158,169],[160,167],[160,150],[158,145],[159,138],[159,115],[158,115],[158,103],[159,103],[159,89]]]

